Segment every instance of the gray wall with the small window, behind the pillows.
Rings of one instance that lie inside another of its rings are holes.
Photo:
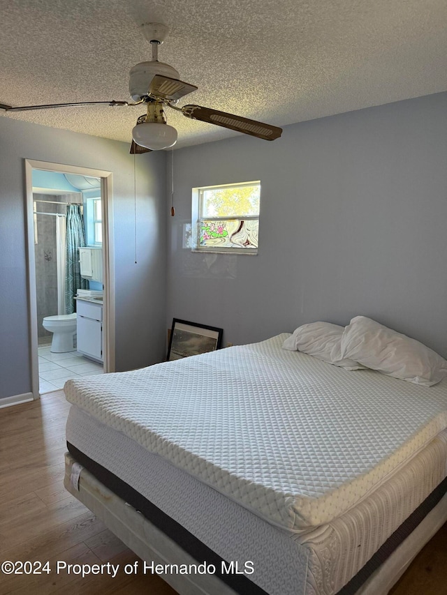
[[[446,163],[446,93],[175,151],[166,325],[241,344],[362,314],[447,356]],[[182,248],[191,188],[256,179],[257,256]]]

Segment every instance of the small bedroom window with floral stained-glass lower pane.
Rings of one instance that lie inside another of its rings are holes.
[[[257,254],[261,182],[193,188],[193,250]]]

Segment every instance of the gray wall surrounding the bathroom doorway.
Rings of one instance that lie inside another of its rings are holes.
[[[137,164],[135,264],[129,144],[0,117],[0,398],[31,391],[24,158],[113,173],[117,370],[163,359],[166,347],[166,154]]]

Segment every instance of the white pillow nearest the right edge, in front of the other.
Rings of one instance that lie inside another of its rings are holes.
[[[447,376],[447,361],[432,349],[365,316],[356,316],[344,329],[340,358],[346,357],[423,386]]]

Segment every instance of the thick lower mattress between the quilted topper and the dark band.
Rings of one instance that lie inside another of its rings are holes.
[[[237,560],[241,568],[254,562],[249,578],[270,595],[337,593],[446,476],[447,430],[356,508],[296,534],[274,527],[75,406],[67,439],[221,558]]]

